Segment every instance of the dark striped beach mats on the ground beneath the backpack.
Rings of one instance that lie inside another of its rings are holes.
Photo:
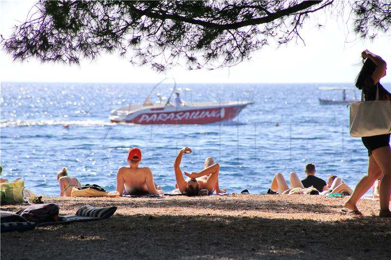
[[[85,205],[79,208],[74,215],[65,215],[59,216],[59,221],[50,221],[50,222],[28,222],[21,216],[7,212],[1,211],[1,232],[7,231],[26,231],[34,229],[36,226],[47,226],[47,225],[57,225],[57,224],[67,224],[71,222],[84,222],[84,221],[94,221],[94,220],[103,220],[110,218],[117,207],[104,207],[104,208],[95,208],[90,205]]]

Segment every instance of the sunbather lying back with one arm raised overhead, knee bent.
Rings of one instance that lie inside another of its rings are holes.
[[[192,149],[189,147],[182,148],[174,161],[174,171],[176,185],[181,193],[186,193],[187,196],[197,196],[202,189],[208,190],[208,194],[212,194],[215,190],[216,193],[225,193],[225,189],[218,188],[218,171],[220,166],[215,163],[212,157],[208,157],[205,160],[204,169],[199,172],[187,173],[184,172],[189,179],[183,178],[182,170],[180,169],[180,163],[184,154],[192,153]]]

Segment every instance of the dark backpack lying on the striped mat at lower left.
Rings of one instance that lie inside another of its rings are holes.
[[[57,203],[34,204],[21,209],[16,214],[31,222],[47,222],[59,219]]]

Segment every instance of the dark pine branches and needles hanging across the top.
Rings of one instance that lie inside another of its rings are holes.
[[[15,60],[78,64],[119,52],[157,71],[181,59],[190,69],[213,69],[249,59],[270,41],[300,38],[312,13],[333,5],[334,0],[39,1],[2,45]],[[387,32],[390,6],[387,0],[351,3],[355,32],[363,38]]]

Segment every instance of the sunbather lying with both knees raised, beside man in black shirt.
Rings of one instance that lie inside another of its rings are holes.
[[[299,176],[295,172],[291,172],[289,175],[290,188],[286,182],[284,176],[281,173],[276,173],[270,184],[270,189],[268,194],[276,194],[277,191],[281,195],[300,195],[300,194],[310,194],[310,195],[319,195],[319,191],[310,186],[304,188],[303,183],[299,179]]]

